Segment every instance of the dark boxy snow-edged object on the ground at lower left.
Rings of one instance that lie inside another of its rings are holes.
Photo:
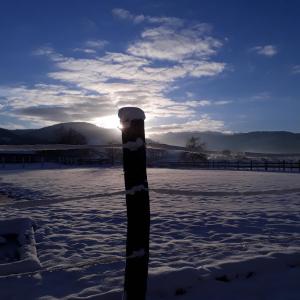
[[[0,276],[41,268],[35,247],[35,227],[30,218],[0,220]]]

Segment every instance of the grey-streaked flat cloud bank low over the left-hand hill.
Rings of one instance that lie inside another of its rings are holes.
[[[8,99],[5,105],[7,114],[36,124],[41,124],[42,121],[47,124],[89,121],[91,118],[117,112],[117,108],[106,96],[68,89],[63,85],[8,87],[1,88],[0,94]]]

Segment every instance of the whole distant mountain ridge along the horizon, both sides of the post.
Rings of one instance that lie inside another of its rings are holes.
[[[76,133],[72,144],[106,145],[121,142],[117,129],[100,128],[86,122],[60,123],[40,129],[8,130],[0,128],[0,145],[68,144],[66,136]],[[148,139],[152,146],[168,148],[168,145],[185,146],[190,137],[199,137],[207,150],[231,150],[234,152],[300,153],[300,133],[288,131],[254,131],[226,134],[212,131],[169,132],[153,134]],[[156,144],[157,143],[157,144]],[[164,144],[164,145],[161,145]]]

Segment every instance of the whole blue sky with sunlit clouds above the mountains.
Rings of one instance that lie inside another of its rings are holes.
[[[300,132],[300,1],[3,0],[0,127]]]

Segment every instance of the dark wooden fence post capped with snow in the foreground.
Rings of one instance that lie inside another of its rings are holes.
[[[127,243],[124,300],[146,297],[150,204],[146,172],[144,112],[137,107],[119,110],[122,125],[123,168],[127,206]]]

